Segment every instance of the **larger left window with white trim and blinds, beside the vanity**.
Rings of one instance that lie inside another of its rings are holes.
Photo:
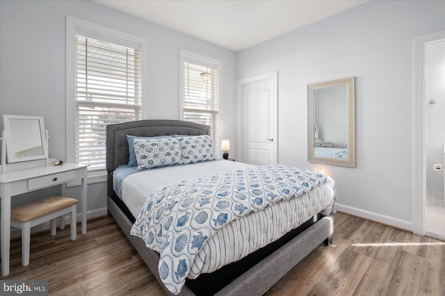
[[[146,118],[146,53],[143,38],[67,17],[67,161],[89,183],[106,180],[106,125]]]

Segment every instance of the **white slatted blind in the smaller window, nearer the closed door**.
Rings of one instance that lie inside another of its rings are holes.
[[[218,147],[219,71],[184,61],[184,120],[211,126]]]

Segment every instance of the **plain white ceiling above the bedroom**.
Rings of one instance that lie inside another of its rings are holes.
[[[368,0],[92,0],[232,51],[307,26]]]

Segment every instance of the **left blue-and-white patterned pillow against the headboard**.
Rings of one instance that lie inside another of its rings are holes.
[[[182,163],[181,146],[175,138],[134,139],[138,170],[179,165]]]

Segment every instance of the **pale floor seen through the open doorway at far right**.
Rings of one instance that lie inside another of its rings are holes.
[[[426,235],[445,240],[444,199],[426,197]]]

